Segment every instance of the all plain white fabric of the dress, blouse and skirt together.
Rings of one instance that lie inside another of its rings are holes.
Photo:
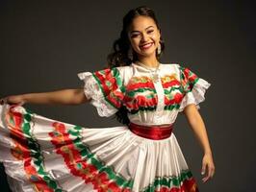
[[[149,71],[137,64],[131,66],[118,67],[119,74],[124,86],[129,84],[131,77],[149,76]],[[160,77],[172,74],[180,80],[180,69],[178,64],[161,64]],[[85,83],[85,94],[90,103],[97,108],[100,116],[110,116],[115,114],[114,108],[106,100],[97,82],[90,72],[78,74]],[[162,125],[175,122],[177,114],[190,104],[202,102],[210,84],[203,79],[199,79],[194,84],[192,91],[183,98],[181,108],[165,110],[164,89],[160,82],[154,83],[158,106],[156,110],[140,110],[136,114],[129,114],[131,122],[140,125]],[[173,90],[173,94],[176,89]],[[10,177],[12,189],[16,192],[34,191],[33,184],[27,180],[28,176],[23,170],[24,160],[13,157],[11,149],[15,147],[13,139],[10,137],[11,128],[5,121],[6,112],[9,106],[0,106],[0,161],[4,162],[6,172]],[[14,108],[17,112],[25,113],[25,108]],[[54,132],[53,123],[55,120],[33,114],[31,126],[32,137],[37,140],[40,146],[41,155],[45,171],[56,180],[63,191],[70,192],[95,192],[93,185],[86,183],[80,177],[70,173],[64,162],[64,157],[56,153],[56,148],[51,142],[49,132]],[[63,123],[63,122],[62,122]],[[63,123],[67,130],[72,131],[75,127],[72,124]],[[175,125],[174,125],[175,128]],[[114,169],[115,173],[126,180],[134,180],[133,192],[139,192],[153,184],[157,177],[179,177],[180,174],[188,170],[189,167],[181,152],[180,146],[174,133],[170,137],[162,140],[151,140],[138,136],[131,132],[127,126],[106,127],[106,128],[83,128],[79,138],[84,145],[88,146],[90,152],[107,166]],[[72,139],[76,139],[75,136]]]

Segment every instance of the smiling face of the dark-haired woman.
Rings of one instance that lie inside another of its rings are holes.
[[[129,40],[139,57],[156,56],[160,36],[155,21],[149,16],[137,16],[128,29]]]

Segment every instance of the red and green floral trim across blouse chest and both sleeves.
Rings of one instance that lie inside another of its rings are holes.
[[[199,80],[189,68],[179,66],[179,70],[180,77],[175,73],[161,77],[165,110],[180,108],[186,93],[192,91],[193,85]],[[157,108],[158,95],[150,77],[132,77],[125,86],[117,68],[96,71],[93,77],[105,100],[117,109],[125,106],[131,114],[136,114],[140,110],[153,111]]]

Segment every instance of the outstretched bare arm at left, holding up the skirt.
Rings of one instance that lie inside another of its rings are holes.
[[[78,105],[89,101],[84,93],[84,88],[11,95],[3,98],[2,100],[8,104],[18,105],[23,105],[26,103],[47,105]],[[2,100],[1,103],[3,103]]]

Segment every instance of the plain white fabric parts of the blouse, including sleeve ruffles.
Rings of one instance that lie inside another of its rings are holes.
[[[159,76],[165,77],[166,75],[173,75],[177,80],[181,80],[180,74],[180,65],[176,63],[171,64],[160,64],[159,67]],[[129,80],[132,77],[150,77],[150,70],[132,63],[130,66],[121,66],[117,67],[124,86],[129,84]],[[97,82],[91,76],[90,72],[83,72],[78,74],[79,78],[84,81],[85,94],[88,98],[92,98],[91,104],[97,108],[98,114],[100,116],[111,116],[117,111],[116,108],[111,106],[106,100],[100,88],[98,87]],[[183,111],[183,109],[190,105],[195,104],[196,108],[199,107],[199,103],[204,101],[205,90],[211,85],[207,81],[199,78],[199,80],[194,84],[192,92],[188,92],[183,98],[181,107],[179,109],[173,110],[164,110],[164,88],[161,82],[154,83],[155,89],[158,96],[158,105],[156,110],[140,110],[136,114],[128,113],[128,118],[131,122],[139,125],[163,125],[163,124],[172,124],[175,122],[178,112]],[[178,86],[178,85],[176,85]],[[172,94],[174,95],[178,90],[173,90]],[[146,92],[141,93],[146,94]]]

